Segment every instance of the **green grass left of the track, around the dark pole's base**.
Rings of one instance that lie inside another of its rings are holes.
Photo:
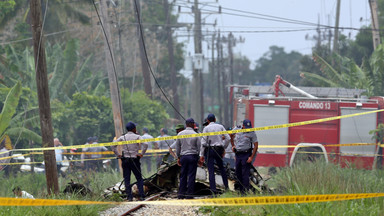
[[[32,194],[40,199],[70,199],[70,200],[92,200],[92,201],[110,201],[102,197],[103,191],[110,186],[115,185],[122,180],[122,175],[118,172],[109,170],[106,172],[86,172],[79,170],[73,173],[67,173],[65,178],[59,177],[59,187],[62,192],[71,181],[84,184],[92,191],[92,195],[85,197],[80,195],[68,195],[60,193],[58,195],[47,195],[46,177],[44,173],[17,173],[15,176],[4,176],[0,172],[0,197],[14,197],[12,189],[20,186],[22,190]],[[80,205],[80,206],[36,206],[36,207],[18,207],[18,206],[0,206],[0,216],[5,215],[98,215],[100,211],[110,208],[111,205]]]

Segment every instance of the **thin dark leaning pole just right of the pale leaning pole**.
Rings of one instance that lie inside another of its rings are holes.
[[[139,41],[139,49],[140,49],[140,60],[141,60],[141,70],[143,72],[143,79],[144,79],[144,90],[145,93],[152,98],[152,85],[151,85],[151,76],[149,72],[149,65],[147,62],[147,57],[145,55],[144,50],[144,36],[141,35],[140,25],[139,25],[139,16],[140,16],[140,1],[133,0],[134,1],[134,8],[136,8],[135,11],[135,19],[137,23],[137,37]]]

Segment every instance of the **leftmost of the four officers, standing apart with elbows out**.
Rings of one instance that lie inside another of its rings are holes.
[[[133,122],[128,122],[125,126],[127,128],[127,133],[114,142],[128,141],[128,140],[139,140],[142,139],[140,135],[136,134],[136,125]],[[122,154],[117,151],[117,146],[112,146],[112,150],[115,155],[121,159],[121,166],[123,168],[124,184],[125,191],[127,193],[128,201],[132,201],[132,191],[131,191],[131,171],[136,177],[137,187],[139,189],[140,200],[144,200],[144,182],[141,175],[140,159],[143,157],[147,151],[147,143],[134,143],[122,145]],[[142,153],[139,153],[139,150],[142,149]]]

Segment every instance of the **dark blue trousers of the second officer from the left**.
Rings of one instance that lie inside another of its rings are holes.
[[[197,171],[197,162],[199,156],[197,154],[182,155],[180,157],[180,187],[178,198],[192,198],[195,193],[195,180]]]

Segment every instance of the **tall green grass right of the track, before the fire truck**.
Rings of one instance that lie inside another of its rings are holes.
[[[384,188],[384,171],[341,168],[322,161],[284,168],[268,181],[275,195],[377,193]],[[232,194],[224,194],[230,197]],[[249,195],[261,196],[261,195]],[[383,198],[308,204],[242,207],[202,207],[211,215],[382,215]]]

